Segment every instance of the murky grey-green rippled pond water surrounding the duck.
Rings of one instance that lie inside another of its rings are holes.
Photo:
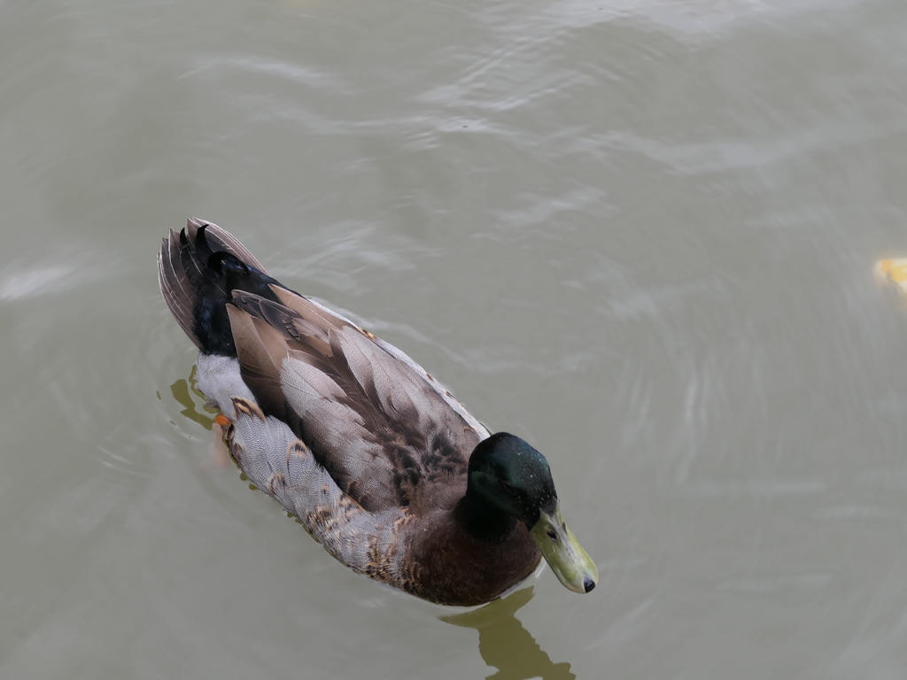
[[[35,0],[0,64],[0,676],[902,677],[901,0]],[[599,588],[427,605],[210,467],[187,215],[546,452]]]

